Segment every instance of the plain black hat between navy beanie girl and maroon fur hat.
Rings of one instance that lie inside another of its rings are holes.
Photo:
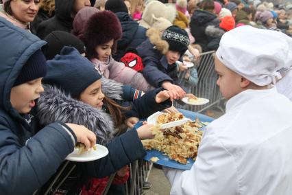
[[[57,54],[60,54],[64,46],[75,47],[80,54],[86,53],[84,43],[77,38],[77,36],[69,32],[60,30],[53,31],[44,38],[44,41],[48,43],[47,46],[42,49],[47,60],[51,60]]]

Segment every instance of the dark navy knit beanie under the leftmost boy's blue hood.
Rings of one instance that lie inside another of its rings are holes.
[[[16,78],[13,86],[29,82],[30,80],[35,80],[37,78],[44,77],[47,73],[47,62],[42,51],[38,49],[32,56],[30,56],[23,65],[21,73]]]

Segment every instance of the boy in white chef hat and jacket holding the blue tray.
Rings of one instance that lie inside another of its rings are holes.
[[[292,194],[292,103],[273,84],[292,65],[292,39],[236,27],[215,56],[226,114],[204,131],[191,170],[164,168],[171,194]]]

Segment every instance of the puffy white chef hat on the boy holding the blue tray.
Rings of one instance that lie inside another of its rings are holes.
[[[292,65],[292,38],[282,32],[249,25],[223,34],[217,58],[232,71],[259,86],[275,84],[278,69]]]

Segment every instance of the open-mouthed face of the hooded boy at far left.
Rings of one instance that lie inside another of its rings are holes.
[[[43,91],[42,78],[12,87],[10,93],[12,107],[21,114],[29,113],[36,105],[34,100],[40,98],[40,93]]]

